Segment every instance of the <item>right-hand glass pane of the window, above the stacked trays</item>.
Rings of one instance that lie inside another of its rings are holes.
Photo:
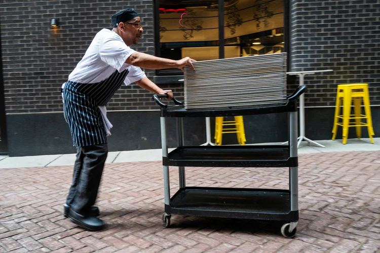
[[[284,0],[233,0],[224,5],[225,58],[284,52]]]

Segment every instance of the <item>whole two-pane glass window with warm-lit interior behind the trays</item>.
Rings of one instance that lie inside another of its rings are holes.
[[[197,61],[219,58],[218,0],[157,0],[160,55]],[[284,0],[224,0],[224,57],[284,51]],[[181,74],[160,70],[160,75]]]

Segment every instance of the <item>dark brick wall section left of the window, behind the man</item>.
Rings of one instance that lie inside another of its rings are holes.
[[[126,7],[138,11],[144,28],[140,43],[133,48],[154,54],[152,0],[1,1],[6,112],[62,111],[60,86],[81,60],[95,34],[111,27],[110,16]],[[59,19],[59,29],[51,28],[52,18]],[[146,74],[153,77],[155,72],[147,70]],[[149,92],[130,85],[117,92],[108,109],[158,108]]]

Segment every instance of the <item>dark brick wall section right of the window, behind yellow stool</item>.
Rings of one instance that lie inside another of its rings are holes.
[[[369,84],[380,105],[380,2],[291,0],[291,71],[333,69],[305,78],[306,106],[334,106],[336,86]]]

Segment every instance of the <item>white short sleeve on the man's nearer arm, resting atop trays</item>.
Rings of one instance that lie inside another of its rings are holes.
[[[116,36],[117,34],[102,39],[99,45],[99,55],[103,62],[121,72],[125,61],[136,51],[125,45],[124,41]]]

